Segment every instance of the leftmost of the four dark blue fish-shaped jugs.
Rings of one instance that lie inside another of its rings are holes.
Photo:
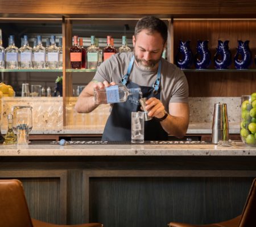
[[[176,65],[180,69],[189,69],[193,63],[193,54],[190,49],[190,40],[187,40],[184,43],[180,40],[175,60]]]

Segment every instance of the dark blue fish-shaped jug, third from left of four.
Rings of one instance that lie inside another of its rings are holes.
[[[218,40],[217,52],[214,55],[214,66],[216,69],[228,69],[232,64],[232,56],[229,51],[229,40],[222,42]]]

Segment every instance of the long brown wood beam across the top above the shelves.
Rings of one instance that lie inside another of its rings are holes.
[[[0,9],[2,14],[243,14],[248,16],[249,14],[255,14],[256,2],[252,0],[60,0],[55,4],[49,0],[1,0]]]

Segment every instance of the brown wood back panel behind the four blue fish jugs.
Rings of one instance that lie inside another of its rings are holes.
[[[237,40],[250,40],[253,53],[250,69],[255,69],[256,21],[254,20],[175,20],[174,54],[177,54],[179,40],[191,40],[191,49],[196,53],[197,39],[209,40],[211,52],[210,69],[214,69],[213,57],[217,40],[230,40],[232,58],[236,54]],[[234,61],[234,59],[232,59]],[[195,68],[193,65],[192,68]],[[234,63],[230,69],[235,69]],[[256,91],[256,72],[185,72],[189,84],[189,96],[241,96]]]

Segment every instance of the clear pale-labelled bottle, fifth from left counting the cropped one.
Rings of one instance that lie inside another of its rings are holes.
[[[55,36],[51,36],[51,46],[48,48],[48,61],[49,69],[59,68],[59,48],[56,47]]]

